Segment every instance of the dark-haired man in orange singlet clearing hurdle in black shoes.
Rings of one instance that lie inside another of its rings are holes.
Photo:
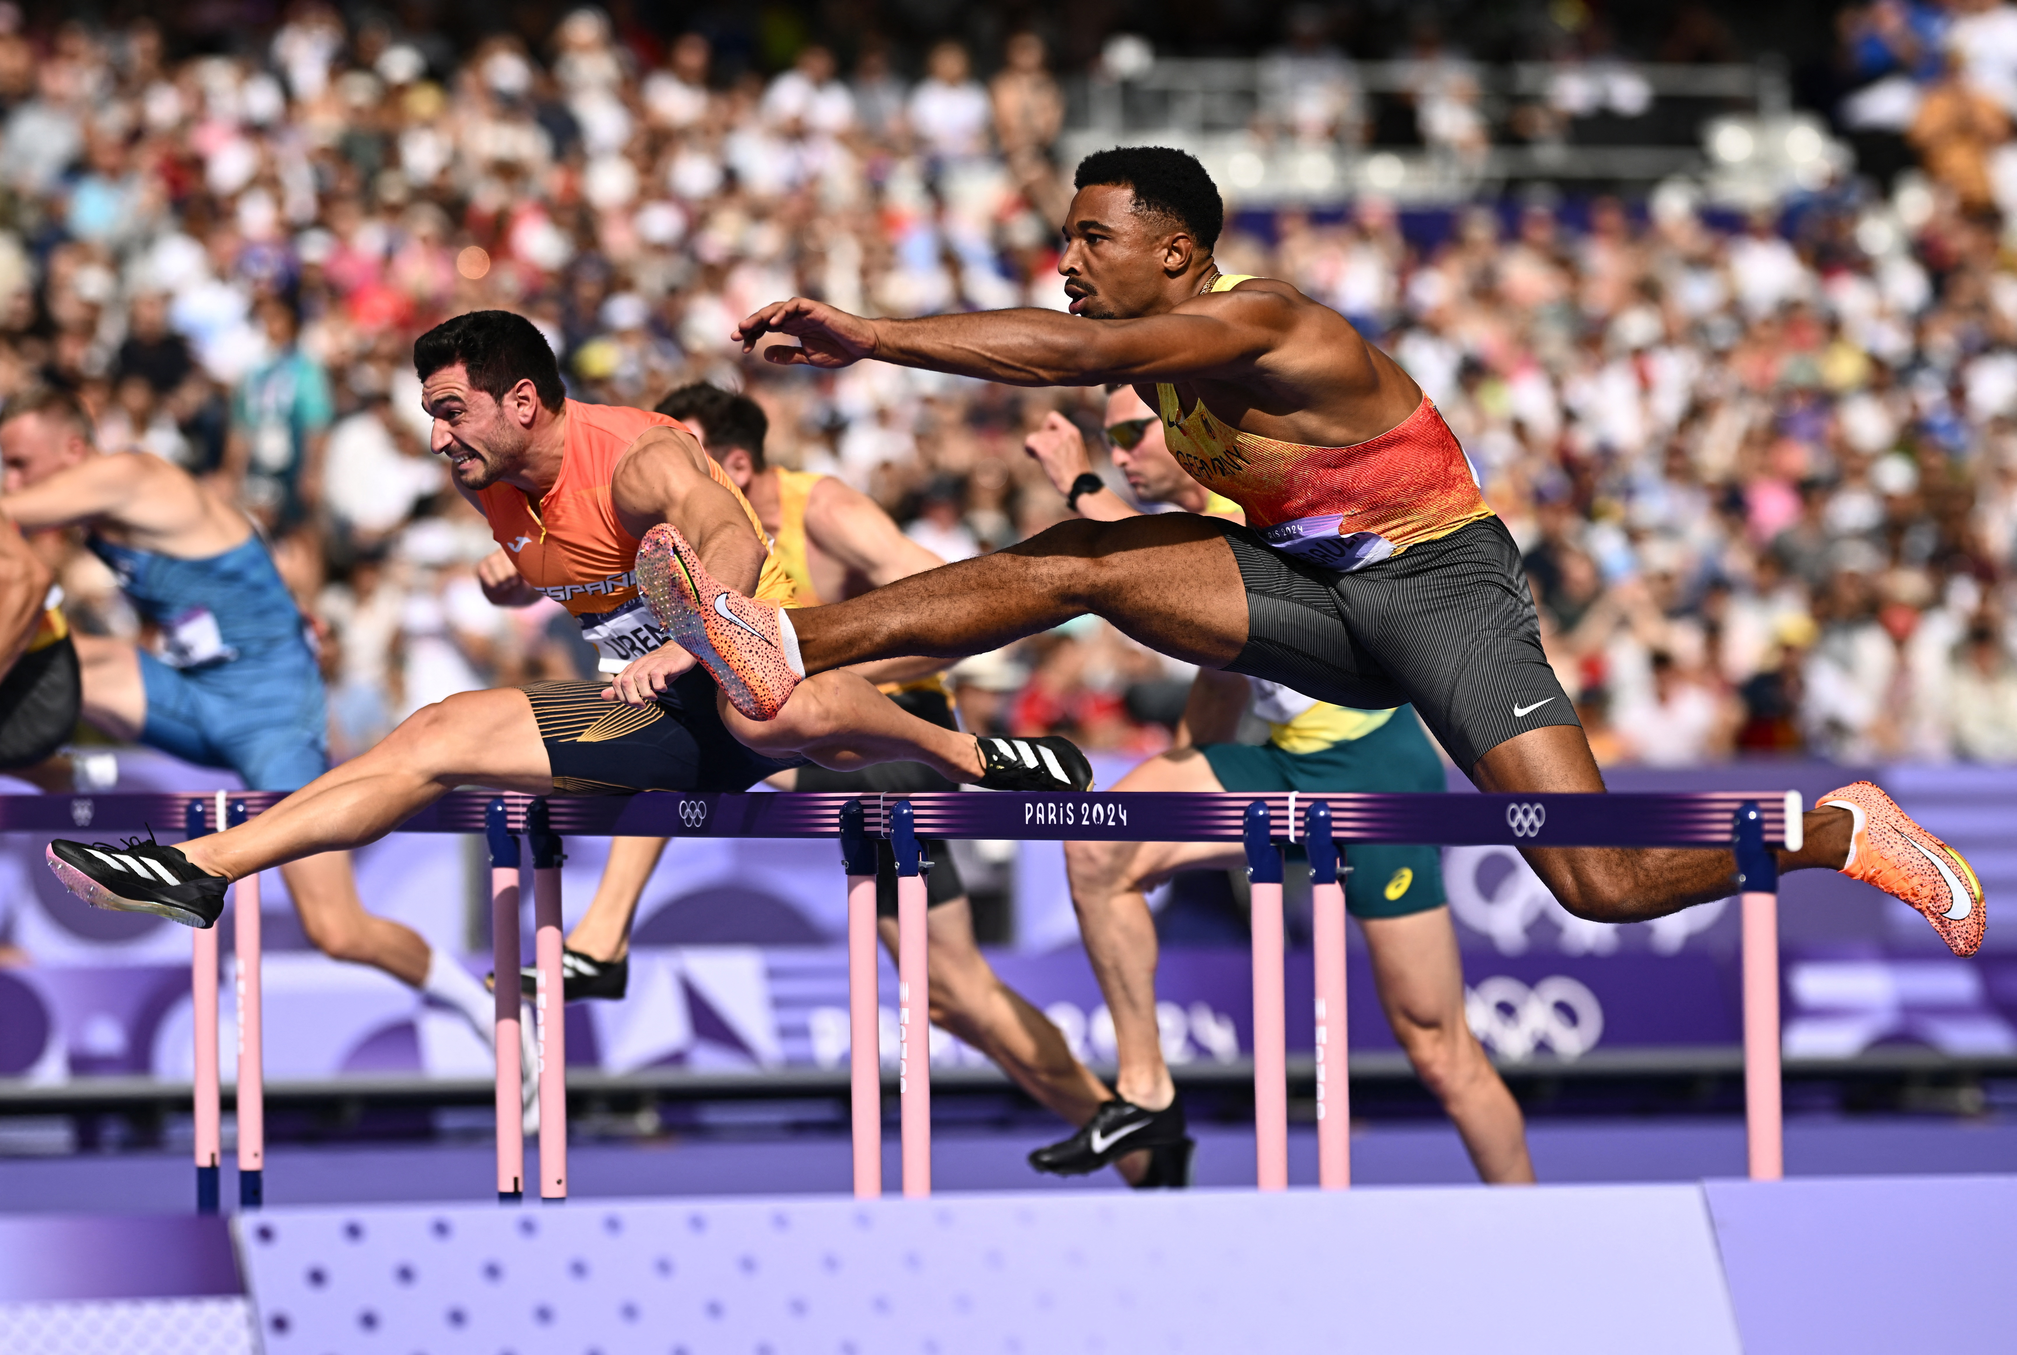
[[[1008,758],[920,720],[857,673],[801,686],[775,722],[728,710],[692,655],[666,643],[637,599],[637,542],[674,524],[710,571],[783,601],[791,579],[748,500],[676,419],[565,397],[530,321],[476,311],[413,345],[434,450],[532,589],[559,599],[617,669],[609,686],[539,682],[462,692],[379,746],[311,780],[250,823],[184,847],[50,843],[79,897],[208,928],[230,881],[383,837],[462,784],[528,794],[744,790],[807,760],[851,770],[924,762],[948,780],[1004,790],[1083,790],[1069,742]],[[1039,742],[1039,740],[1029,740]]]

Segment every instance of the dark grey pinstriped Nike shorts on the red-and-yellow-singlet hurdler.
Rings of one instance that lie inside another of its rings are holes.
[[[1247,647],[1230,671],[1359,710],[1414,704],[1466,774],[1515,734],[1579,724],[1499,518],[1351,573],[1220,530],[1247,585]]]

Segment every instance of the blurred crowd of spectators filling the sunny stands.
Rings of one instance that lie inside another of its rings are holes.
[[[2017,30],[1979,0],[1926,12],[1844,20],[1916,119],[1952,34]],[[1979,87],[2005,109],[2017,40],[1967,46],[2009,54]],[[896,65],[865,40],[847,71],[805,46],[728,79],[706,38],[619,40],[597,10],[456,50],[319,4],[246,56],[169,60],[147,20],[30,36],[0,4],[0,393],[77,389],[103,448],[214,476],[264,524],[339,756],[456,690],[583,671],[557,605],[484,603],[488,530],[428,454],[411,339],[462,311],[528,315],[577,399],[748,389],[779,464],[845,476],[946,559],[1011,544],[1065,516],[1027,429],[1095,432],[1097,391],[787,371],[728,339],[795,292],[1063,306],[1045,42]],[[1236,214],[1218,258],[1337,306],[1436,399],[1599,758],[2017,760],[2017,266],[1944,147],[1894,196],[1749,220],[1662,190],[1404,232],[1366,198]],[[135,629],[93,557],[63,583],[79,625]],[[974,726],[1123,752],[1168,742],[1186,680],[1095,619],[958,675]]]

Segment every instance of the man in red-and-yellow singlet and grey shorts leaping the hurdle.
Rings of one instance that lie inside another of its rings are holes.
[[[1519,546],[1482,504],[1462,450],[1422,387],[1351,325],[1277,278],[1228,278],[1212,260],[1224,204],[1182,151],[1087,155],[1059,272],[1071,315],[986,311],[861,319],[791,298],[746,317],[744,349],[845,367],[877,359],[1013,385],[1125,381],[1170,429],[1170,450],[1247,526],[1190,514],[1065,522],[873,597],[797,613],[746,607],[712,627],[716,682],[883,655],[992,649],[1087,611],[1204,667],[1279,682],[1339,706],[1412,704],[1482,790],[1597,792],[1604,776],[1547,655]],[[680,550],[676,530],[645,550]],[[682,557],[684,559],[684,557]],[[690,573],[654,591],[670,621],[734,607]],[[760,688],[762,716],[789,682]],[[1781,849],[1781,871],[1827,867],[1892,893],[1954,954],[1983,942],[1981,881],[1870,782],[1821,796]],[[1571,913],[1642,921],[1729,897],[1729,851],[1523,849]]]

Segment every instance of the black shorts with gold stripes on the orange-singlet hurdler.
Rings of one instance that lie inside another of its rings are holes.
[[[690,667],[649,706],[603,700],[601,682],[532,682],[539,738],[555,794],[635,790],[748,790],[799,760],[766,758],[736,742],[714,706],[708,669]]]

